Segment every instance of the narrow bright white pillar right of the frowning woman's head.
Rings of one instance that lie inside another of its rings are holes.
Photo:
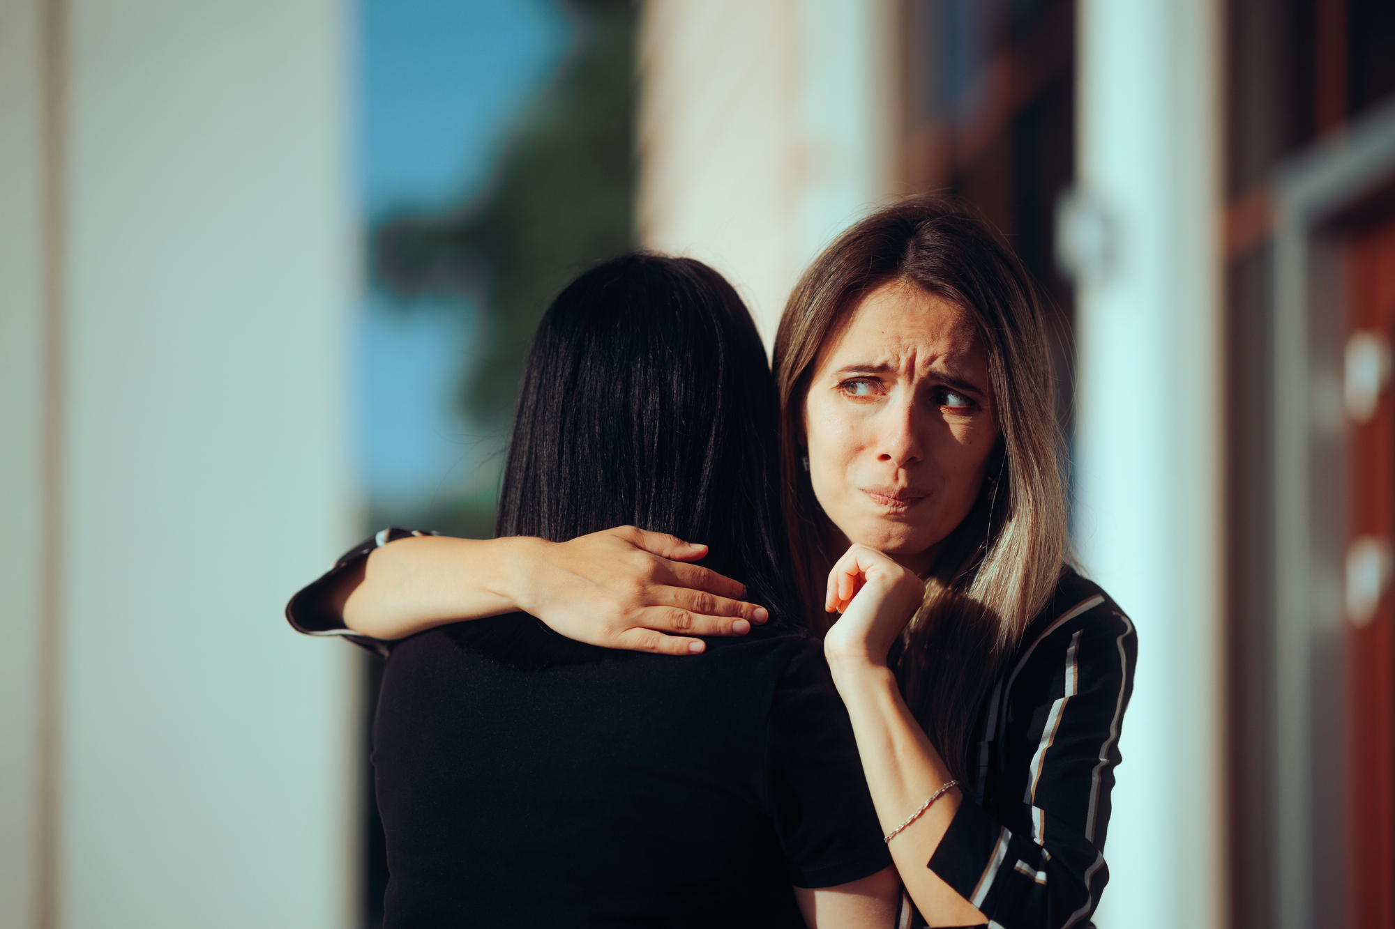
[[[1219,10],[1081,0],[1078,24],[1078,190],[1109,248],[1077,292],[1076,524],[1138,628],[1096,922],[1221,926]]]

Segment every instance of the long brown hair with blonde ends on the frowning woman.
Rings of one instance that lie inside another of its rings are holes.
[[[823,343],[890,282],[950,300],[976,322],[997,410],[988,477],[930,566],[925,603],[893,651],[911,711],[963,780],[983,695],[1069,559],[1052,329],[1011,248],[963,208],[933,197],[872,213],[809,265],[780,319],[774,364],[784,518],[810,617],[826,615],[824,582],[841,552],[827,548],[829,519],[799,466],[805,396]]]

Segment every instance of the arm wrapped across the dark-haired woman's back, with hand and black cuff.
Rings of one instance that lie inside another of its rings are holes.
[[[707,547],[621,526],[566,543],[412,536],[297,594],[321,628],[372,639],[525,611],[562,635],[612,649],[692,654],[692,636],[744,635],[764,608],[745,587],[692,565]],[[677,635],[674,635],[677,633]]]

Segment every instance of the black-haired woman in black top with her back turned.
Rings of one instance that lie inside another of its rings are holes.
[[[710,268],[629,255],[558,296],[498,536],[709,538],[769,622],[682,667],[516,614],[375,643],[388,929],[891,923],[896,872],[788,582],[777,431],[755,324]]]

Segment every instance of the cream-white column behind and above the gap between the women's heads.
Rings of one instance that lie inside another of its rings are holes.
[[[725,275],[767,345],[799,272],[893,190],[890,0],[649,0],[639,236]]]

